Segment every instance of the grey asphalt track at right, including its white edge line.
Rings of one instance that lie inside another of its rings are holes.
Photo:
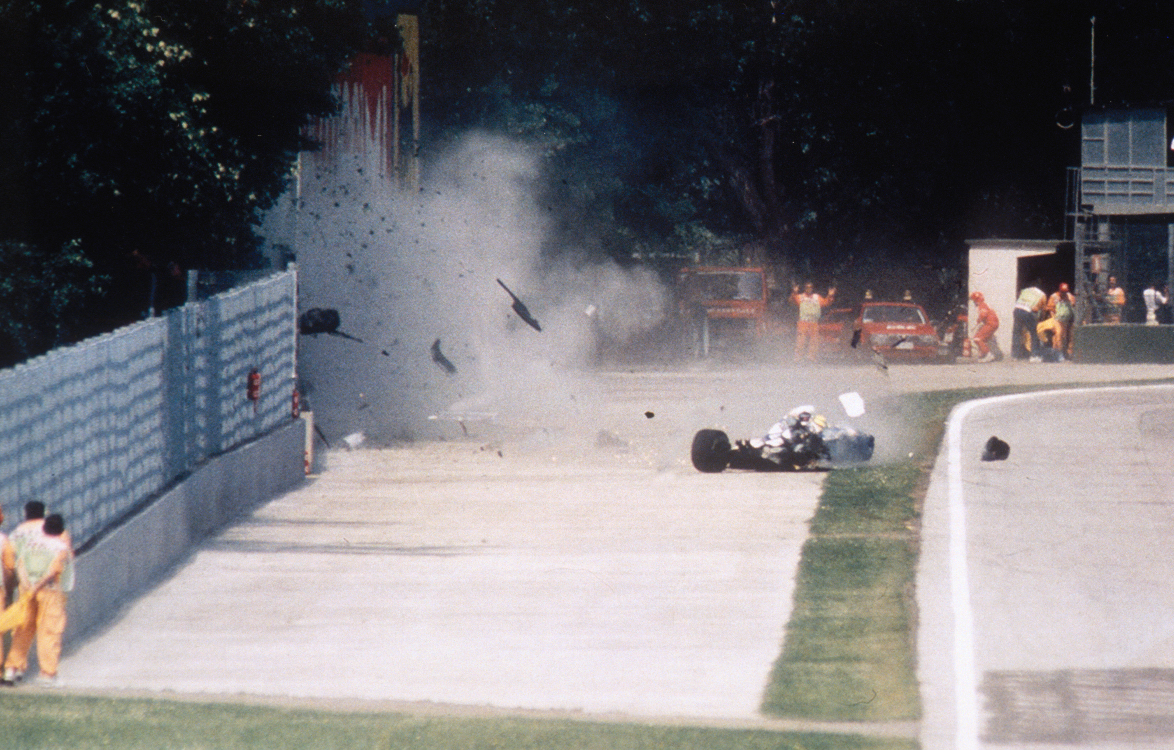
[[[923,519],[925,750],[1174,743],[1172,399],[999,398],[956,425]],[[1006,461],[979,460],[991,435]]]

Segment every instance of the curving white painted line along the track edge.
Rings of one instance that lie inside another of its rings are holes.
[[[954,750],[978,750],[978,675],[974,664],[974,613],[970,599],[970,568],[966,555],[966,502],[962,482],[962,424],[980,406],[1046,396],[1071,396],[1106,391],[1141,391],[1169,385],[1127,385],[1011,393],[965,401],[953,408],[946,426],[946,489],[950,516],[950,608],[953,613],[954,668]]]

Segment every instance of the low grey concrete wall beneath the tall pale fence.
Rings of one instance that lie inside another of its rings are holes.
[[[107,622],[216,529],[305,481],[305,421],[212,457],[76,560],[65,646]]]

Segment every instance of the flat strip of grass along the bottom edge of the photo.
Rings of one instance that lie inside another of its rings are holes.
[[[11,750],[912,750],[909,739],[603,724],[571,719],[332,714],[67,695],[0,695]]]

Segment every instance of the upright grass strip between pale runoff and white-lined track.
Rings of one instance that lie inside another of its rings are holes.
[[[917,570],[920,507],[954,405],[994,390],[905,397],[913,458],[828,474],[796,577],[782,655],[762,710],[823,721],[920,717]]]

